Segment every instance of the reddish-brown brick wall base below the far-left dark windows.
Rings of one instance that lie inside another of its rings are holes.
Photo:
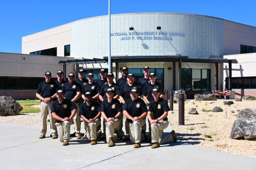
[[[0,96],[11,96],[15,100],[37,99],[36,90],[1,90]]]

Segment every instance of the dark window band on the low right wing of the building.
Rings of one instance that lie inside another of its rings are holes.
[[[232,77],[232,88],[256,88],[256,77]],[[228,77],[226,77],[226,88],[228,88]]]

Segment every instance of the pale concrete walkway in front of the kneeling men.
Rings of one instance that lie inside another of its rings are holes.
[[[62,146],[49,130],[39,139],[39,131],[40,126],[0,124],[0,169],[256,169],[256,158],[181,141],[157,149],[142,142],[134,149],[130,141],[109,148],[103,141],[91,145],[72,137],[70,145]]]

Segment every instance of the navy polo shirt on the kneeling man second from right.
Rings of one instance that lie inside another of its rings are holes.
[[[132,99],[126,100],[123,110],[126,110],[132,117],[141,116],[144,112],[148,112],[145,102],[140,98],[135,101],[132,101]],[[132,123],[131,119],[127,118],[127,121]]]

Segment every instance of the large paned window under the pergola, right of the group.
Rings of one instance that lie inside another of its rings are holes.
[[[184,91],[210,91],[210,69],[181,69],[181,86]]]

